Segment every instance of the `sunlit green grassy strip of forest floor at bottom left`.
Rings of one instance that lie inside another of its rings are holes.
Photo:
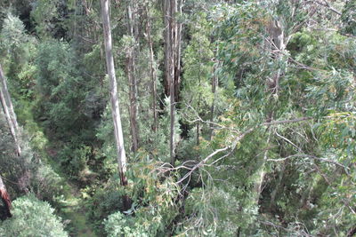
[[[70,236],[76,237],[95,237],[97,236],[92,229],[92,226],[88,223],[87,217],[85,215],[84,200],[82,198],[82,193],[80,192],[79,186],[75,182],[71,182],[66,174],[63,173],[59,164],[54,162],[54,156],[56,151],[53,149],[48,149],[47,154],[49,156],[50,164],[61,178],[65,186],[64,190],[64,200],[61,201],[61,209],[59,214],[61,215],[63,222],[67,224],[66,230],[69,232]]]

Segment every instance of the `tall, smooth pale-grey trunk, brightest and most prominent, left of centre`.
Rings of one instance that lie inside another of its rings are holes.
[[[121,126],[120,110],[118,107],[118,99],[117,99],[117,79],[115,75],[114,58],[112,56],[111,29],[110,29],[110,21],[109,21],[108,2],[109,0],[101,0],[102,26],[103,26],[104,40],[105,40],[106,64],[107,64],[108,75],[109,75],[111,113],[112,113],[112,120],[114,122],[115,142],[117,146],[118,172],[120,176],[121,185],[126,186],[127,185],[127,179],[125,177],[126,155],[125,155],[125,146],[124,146],[124,136],[123,136],[122,126]],[[128,203],[125,204],[127,205]],[[127,206],[125,208],[127,208]]]

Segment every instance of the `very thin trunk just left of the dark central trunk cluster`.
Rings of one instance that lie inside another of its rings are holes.
[[[156,69],[154,66],[154,52],[153,52],[153,43],[152,43],[152,37],[150,36],[150,12],[149,8],[145,7],[146,11],[146,17],[147,17],[147,23],[146,23],[146,32],[147,32],[147,38],[149,42],[149,47],[150,47],[150,77],[151,77],[151,91],[152,91],[152,111],[153,111],[153,125],[152,129],[157,132],[157,85],[156,85]]]

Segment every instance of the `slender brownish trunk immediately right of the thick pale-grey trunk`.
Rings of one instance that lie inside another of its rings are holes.
[[[130,97],[130,131],[132,136],[132,150],[135,153],[139,147],[139,131],[137,124],[137,80],[135,75],[135,49],[136,49],[136,33],[135,20],[132,12],[132,1],[127,4],[127,29],[134,39],[134,45],[127,51],[126,59],[126,74],[129,83],[129,97]]]

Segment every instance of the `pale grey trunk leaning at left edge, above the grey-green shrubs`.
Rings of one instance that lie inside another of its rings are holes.
[[[20,148],[20,130],[17,123],[16,115],[12,107],[12,100],[10,93],[7,89],[6,78],[4,76],[3,68],[0,65],[0,80],[1,80],[1,89],[0,89],[0,100],[4,109],[4,114],[9,125],[12,138],[15,142],[16,152],[18,155],[21,154]]]

